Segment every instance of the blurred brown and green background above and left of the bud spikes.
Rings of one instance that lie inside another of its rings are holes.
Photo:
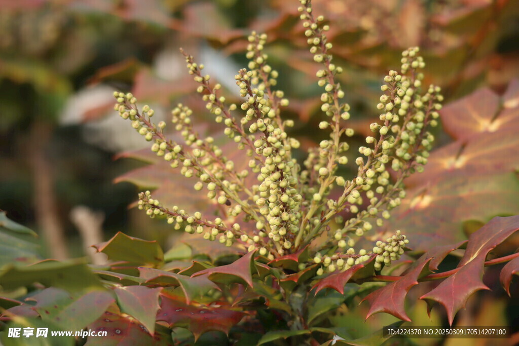
[[[377,117],[381,78],[409,46],[421,47],[426,83],[442,86],[446,102],[481,86],[502,93],[519,76],[517,1],[313,3],[330,22],[334,59],[346,71],[353,142]],[[189,104],[212,132],[178,49],[203,62],[235,100],[234,74],[247,64],[252,30],[269,35],[269,63],[291,100],[285,116],[296,120],[303,159],[322,140],[313,130],[323,115],[297,1],[0,0],[0,209],[35,229],[49,257],[84,256],[85,244],[117,231],[168,246],[171,231],[129,207],[162,178],[128,154],[147,143],[113,111],[112,92],[133,92],[166,120],[173,104]],[[437,134],[438,145],[449,141]]]

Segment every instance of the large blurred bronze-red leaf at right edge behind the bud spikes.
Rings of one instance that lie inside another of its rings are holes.
[[[423,174],[405,179],[408,198],[388,225],[413,232],[415,250],[465,239],[468,220],[519,214],[518,89],[512,82],[502,98],[482,89],[442,110],[457,141],[434,150]]]

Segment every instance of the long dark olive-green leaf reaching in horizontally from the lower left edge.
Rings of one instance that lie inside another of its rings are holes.
[[[63,262],[47,260],[26,267],[11,265],[0,273],[0,285],[7,290],[35,282],[70,292],[103,289],[98,277],[82,259]]]

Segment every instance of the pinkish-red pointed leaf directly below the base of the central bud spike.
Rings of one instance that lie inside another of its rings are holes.
[[[254,253],[255,251],[251,251],[230,265],[201,270],[194,273],[192,277],[208,275],[209,279],[214,282],[245,282],[252,287],[252,274],[257,273],[253,260]]]

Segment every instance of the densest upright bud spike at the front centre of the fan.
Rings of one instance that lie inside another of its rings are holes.
[[[290,139],[278,123],[271,120],[276,113],[267,105],[265,92],[252,84],[254,78],[254,73],[245,69],[235,76],[240,95],[247,100],[241,105],[246,112],[244,123],[252,121],[249,132],[260,134],[254,141],[255,153],[265,157],[262,165],[250,162],[253,172],[260,173],[257,176],[260,185],[254,188],[253,200],[267,221],[260,225],[265,228],[257,228],[265,229],[269,239],[280,245],[278,253],[283,254],[292,248],[301,218],[298,207],[302,196],[292,173],[296,162],[290,155],[299,142]]]

